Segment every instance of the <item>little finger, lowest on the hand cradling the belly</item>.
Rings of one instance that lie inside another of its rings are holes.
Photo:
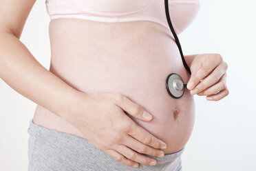
[[[105,150],[105,153],[109,154],[109,156],[113,157],[116,159],[116,161],[119,161],[121,163],[124,163],[127,166],[138,168],[138,163],[131,161],[130,159],[127,159],[124,157],[122,154],[119,152],[116,152],[115,150]]]

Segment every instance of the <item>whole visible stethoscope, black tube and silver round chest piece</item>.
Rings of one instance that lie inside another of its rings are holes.
[[[182,63],[184,65],[184,67],[186,68],[186,70],[191,75],[191,70],[189,69],[189,66],[186,64],[186,61],[185,61],[183,53],[182,53],[180,41],[178,39],[177,34],[175,33],[175,30],[173,29],[172,23],[171,23],[168,0],[164,0],[164,6],[165,6],[165,14],[167,16],[169,28],[171,29],[171,32],[173,33],[173,37],[175,38],[176,44],[178,45],[178,48],[180,50],[180,56],[182,57]],[[167,76],[166,86],[167,86],[167,92],[170,94],[171,97],[173,97],[175,99],[182,97],[182,95],[184,94],[184,89],[186,88],[186,84],[183,82],[180,75],[175,74],[175,73],[171,73]]]

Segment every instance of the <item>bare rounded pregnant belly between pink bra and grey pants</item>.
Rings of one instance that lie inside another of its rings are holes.
[[[85,93],[120,92],[153,114],[150,122],[133,119],[167,143],[165,154],[177,152],[191,136],[195,108],[185,90],[169,96],[167,75],[189,81],[170,30],[149,21],[100,23],[83,19],[50,22],[50,71]],[[94,111],[92,111],[94,112]],[[74,125],[37,105],[34,123],[83,137]]]

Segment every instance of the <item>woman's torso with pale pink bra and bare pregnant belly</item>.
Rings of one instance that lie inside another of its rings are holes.
[[[189,81],[189,74],[167,25],[164,0],[140,3],[135,0],[129,3],[125,0],[122,3],[118,0],[109,3],[103,0],[101,3],[92,0],[45,2],[52,19],[49,26],[50,72],[81,92],[124,94],[153,114],[149,122],[128,115],[167,143],[167,149],[163,150],[165,154],[181,150],[193,130],[195,106],[189,90],[185,89],[180,99],[173,99],[166,89],[170,73],[179,74],[184,83]],[[125,12],[141,6],[147,8],[131,15]],[[179,34],[195,18],[199,1],[171,0],[169,7],[173,27]],[[87,13],[88,10],[93,14]],[[94,21],[91,14],[101,21],[111,22]],[[105,14],[109,16],[103,17]],[[122,19],[134,21],[116,22]],[[37,105],[33,121],[46,128],[85,138],[74,125],[41,105]]]

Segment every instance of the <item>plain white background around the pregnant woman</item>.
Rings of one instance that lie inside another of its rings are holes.
[[[255,5],[253,0],[200,4],[198,17],[179,34],[182,50],[222,54],[230,94],[221,101],[195,95],[195,126],[182,154],[183,170],[256,170]],[[50,66],[49,21],[45,1],[36,1],[21,36],[45,68]],[[0,170],[27,170],[27,129],[35,108],[0,79]]]

